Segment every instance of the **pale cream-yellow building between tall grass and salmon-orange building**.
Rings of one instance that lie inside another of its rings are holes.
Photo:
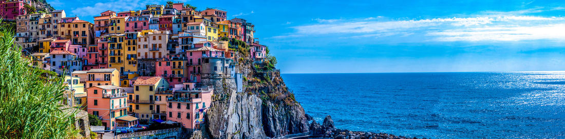
[[[67,97],[67,105],[71,107],[86,107],[86,91],[84,84],[80,83],[80,78],[67,75],[63,79],[63,84],[65,84],[64,96]]]

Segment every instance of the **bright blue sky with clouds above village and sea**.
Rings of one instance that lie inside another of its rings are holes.
[[[67,16],[166,0],[47,0]],[[173,1],[255,25],[282,73],[565,70],[562,1]]]

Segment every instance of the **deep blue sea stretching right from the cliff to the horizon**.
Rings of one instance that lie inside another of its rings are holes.
[[[426,138],[565,138],[565,72],[282,74],[336,127]]]

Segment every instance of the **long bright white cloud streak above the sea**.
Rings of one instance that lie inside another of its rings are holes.
[[[421,20],[323,20],[293,26],[295,32],[273,38],[337,35],[341,39],[409,37],[420,41],[565,41],[565,18],[542,16],[476,16]],[[292,36],[290,36],[292,35]]]

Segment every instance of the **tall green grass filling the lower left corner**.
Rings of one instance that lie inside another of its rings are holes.
[[[61,77],[28,66],[13,28],[0,19],[0,138],[78,138],[75,113],[64,113]]]

